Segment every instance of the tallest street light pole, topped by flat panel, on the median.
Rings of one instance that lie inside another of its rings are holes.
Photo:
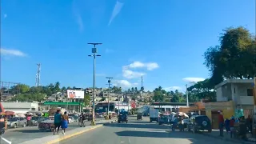
[[[94,58],[94,92],[93,92],[93,118],[91,120],[91,125],[95,126],[95,102],[94,102],[94,97],[95,97],[95,75],[96,75],[96,57],[100,57],[101,55],[97,54],[97,48],[96,45],[102,45],[102,43],[88,43],[89,45],[94,45],[94,47],[91,49],[91,52],[93,54],[88,55],[89,57]]]

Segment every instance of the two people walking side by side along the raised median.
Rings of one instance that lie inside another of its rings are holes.
[[[69,116],[66,114],[66,111],[64,114],[61,113],[61,110],[57,110],[54,114],[54,134],[57,130],[57,134],[59,131],[59,128],[62,127],[62,134],[65,134],[66,128],[68,127],[69,123]]]

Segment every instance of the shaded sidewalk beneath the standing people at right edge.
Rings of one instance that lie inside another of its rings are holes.
[[[238,138],[230,138],[230,134],[226,134],[226,130],[224,130],[223,137],[219,136],[219,130],[212,130],[211,133],[201,131],[201,132],[199,132],[199,134],[203,134],[203,135],[206,135],[206,136],[209,136],[209,137],[212,137],[212,138],[219,138],[219,139],[222,139],[224,141],[236,142],[236,143],[242,143],[242,144],[255,144],[255,142],[256,142],[255,138],[248,138],[247,141],[242,140],[242,139],[238,139]]]

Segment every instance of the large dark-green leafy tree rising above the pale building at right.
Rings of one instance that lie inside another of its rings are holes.
[[[214,85],[223,78],[253,78],[256,75],[255,38],[242,26],[223,30],[220,46],[206,50],[205,65]]]

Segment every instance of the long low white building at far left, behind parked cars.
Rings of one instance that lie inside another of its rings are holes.
[[[2,102],[2,106],[6,111],[14,111],[15,114],[38,111],[38,102]]]

